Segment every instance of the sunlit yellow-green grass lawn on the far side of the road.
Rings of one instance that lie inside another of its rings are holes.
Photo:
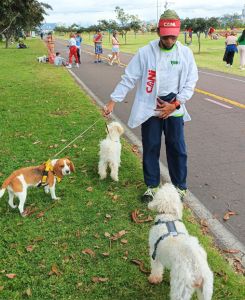
[[[93,40],[93,35],[90,36],[88,34],[82,34],[84,39],[84,43],[91,44]],[[61,38],[68,39],[68,35],[61,36]],[[150,41],[157,39],[156,33],[147,33],[147,34],[137,34],[132,33],[127,34],[127,44],[125,45],[124,39],[119,36],[120,51],[135,53],[140,47],[147,45]],[[179,41],[184,44],[184,35],[180,34]],[[205,39],[204,35],[202,35],[201,39],[201,53],[198,54],[198,41],[196,34],[193,34],[193,43],[189,47],[193,50],[195,55],[196,63],[198,67],[207,68],[210,70],[216,70],[228,74],[235,74],[240,76],[245,76],[245,71],[241,71],[239,67],[239,54],[235,54],[233,68],[227,68],[225,63],[223,62],[224,55],[224,47],[225,39],[220,37],[219,40],[210,40]],[[111,42],[109,41],[109,36],[106,34],[103,39],[103,47],[107,49],[111,49]]]

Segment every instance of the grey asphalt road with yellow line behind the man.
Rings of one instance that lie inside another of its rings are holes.
[[[65,45],[58,40],[56,51],[67,58]],[[108,65],[108,53],[105,50],[101,64],[94,64],[93,47],[83,45],[82,64],[72,69],[104,103],[124,72],[124,66]],[[132,55],[121,53],[120,57],[127,65]],[[188,187],[245,244],[245,77],[199,69],[197,91],[187,104],[192,121],[185,123]],[[135,90],[130,92],[114,111],[125,124],[134,93]],[[140,128],[133,132],[140,138]],[[164,152],[161,160],[167,166]],[[228,210],[237,214],[225,222],[223,216]]]

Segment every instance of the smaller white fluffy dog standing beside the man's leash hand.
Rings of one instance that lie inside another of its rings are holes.
[[[98,173],[100,179],[107,176],[107,167],[111,169],[111,178],[118,181],[118,169],[121,163],[121,143],[120,136],[124,133],[122,125],[118,122],[111,122],[107,125],[107,137],[100,142],[100,160]]]

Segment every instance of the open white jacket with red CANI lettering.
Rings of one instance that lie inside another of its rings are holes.
[[[156,115],[154,109],[157,104],[156,98],[159,86],[158,61],[161,51],[158,44],[159,39],[139,49],[126,67],[122,80],[111,94],[113,101],[122,102],[138,81],[135,100],[128,121],[128,125],[131,128],[141,125],[150,117]],[[178,41],[176,45],[182,67],[178,87],[179,92],[176,96],[181,103],[181,108],[180,110],[175,110],[171,115],[178,115],[181,111],[184,115],[184,121],[189,121],[191,118],[184,104],[194,93],[198,80],[198,71],[192,51]]]

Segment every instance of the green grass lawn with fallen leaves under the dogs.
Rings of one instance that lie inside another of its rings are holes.
[[[98,143],[106,134],[99,108],[66,69],[36,62],[45,51],[39,40],[27,44],[28,49],[8,50],[0,44],[0,182],[19,167],[52,158],[101,121],[63,153],[76,173],[58,184],[60,201],[51,201],[42,189],[29,190],[26,207],[33,213],[22,218],[8,206],[7,194],[1,199],[0,299],[169,299],[168,272],[162,284],[151,286],[131,262],[138,259],[149,269],[151,224],[130,218],[135,209],[150,214],[139,201],[144,190],[139,158],[124,140],[119,183],[99,180]],[[201,233],[189,209],[184,221],[208,252],[213,299],[244,300],[244,277]]]

